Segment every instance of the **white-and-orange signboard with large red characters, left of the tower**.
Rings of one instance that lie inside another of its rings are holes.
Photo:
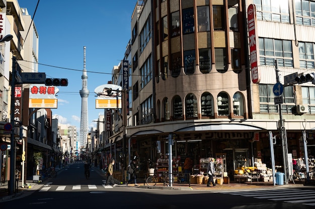
[[[42,84],[30,85],[29,108],[57,108],[59,88]]]

